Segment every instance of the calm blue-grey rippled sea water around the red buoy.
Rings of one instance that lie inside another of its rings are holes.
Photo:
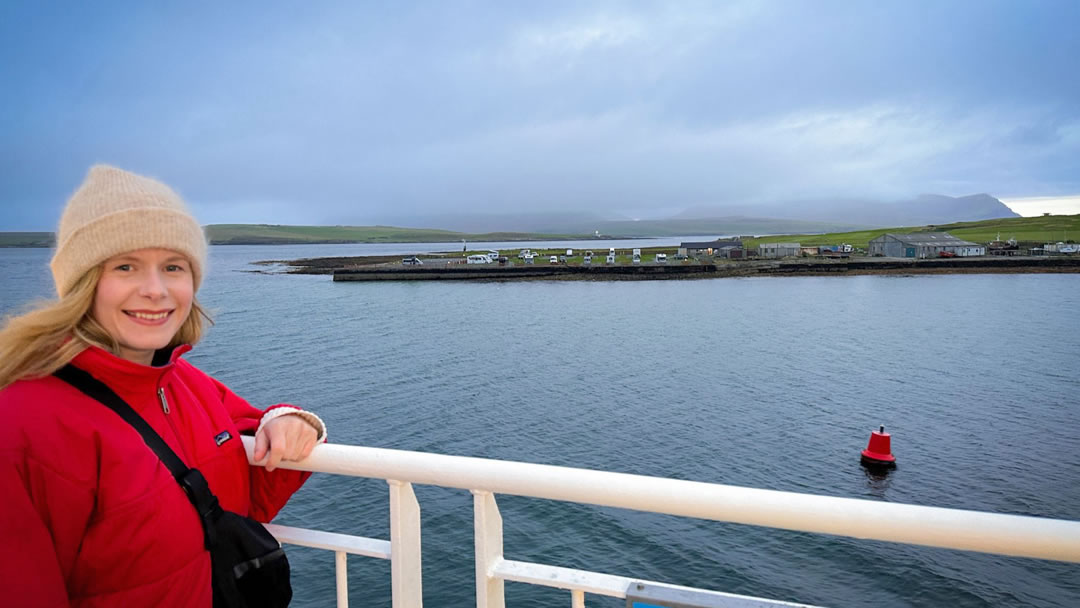
[[[339,443],[1080,519],[1080,275],[334,284],[249,265],[447,248],[212,247],[217,325],[189,359]],[[0,249],[0,312],[51,294],[49,256]],[[883,479],[859,465],[878,424],[900,461]],[[417,496],[426,604],[468,606],[471,496]],[[387,501],[316,475],[279,522],[389,538]],[[825,606],[1080,606],[1078,565],[499,501],[513,559]],[[333,555],[291,560],[294,606],[330,604]],[[349,577],[354,604],[390,606],[389,563]]]

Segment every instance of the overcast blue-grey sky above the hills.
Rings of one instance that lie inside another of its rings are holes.
[[[157,4],[0,4],[0,230],[1080,194],[1075,0]]]

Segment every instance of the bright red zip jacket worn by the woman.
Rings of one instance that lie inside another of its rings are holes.
[[[262,413],[180,360],[188,350],[163,367],[98,348],[72,363],[202,471],[221,506],[269,522],[310,473],[247,464],[239,435]],[[134,428],[58,378],[0,391],[0,513],[4,606],[212,604],[210,553],[184,491]]]

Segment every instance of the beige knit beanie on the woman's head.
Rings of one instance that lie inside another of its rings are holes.
[[[56,231],[50,264],[56,293],[63,298],[86,271],[112,256],[151,247],[184,254],[199,289],[206,237],[176,192],[117,167],[91,167],[68,200]]]

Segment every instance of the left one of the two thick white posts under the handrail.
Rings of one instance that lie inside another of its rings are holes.
[[[420,504],[413,484],[390,484],[390,586],[393,608],[420,608]]]

